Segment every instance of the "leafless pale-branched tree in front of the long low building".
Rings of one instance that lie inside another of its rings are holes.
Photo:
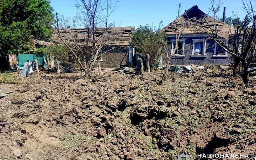
[[[108,18],[116,10],[117,1],[115,3],[111,0],[76,1],[78,12],[75,22],[82,28],[79,30],[69,28],[65,20],[56,14],[57,34],[62,44],[70,50],[72,54],[70,57],[90,76],[101,55],[116,48],[111,46],[118,41],[120,32],[113,23],[108,23]]]

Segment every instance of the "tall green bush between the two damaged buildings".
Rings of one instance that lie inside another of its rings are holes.
[[[133,33],[130,45],[143,55],[149,54],[150,70],[159,64],[159,59],[166,45],[166,34],[161,30],[161,23],[158,28],[153,26],[139,26]]]

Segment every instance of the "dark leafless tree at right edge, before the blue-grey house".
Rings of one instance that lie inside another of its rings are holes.
[[[245,86],[249,83],[249,73],[255,71],[250,70],[250,66],[256,64],[254,62],[254,55],[256,49],[256,15],[254,7],[252,6],[251,0],[243,2],[243,9],[246,12],[244,20],[240,24],[234,24],[229,26],[225,23],[221,23],[215,20],[215,15],[219,11],[220,1],[215,3],[214,0],[211,1],[210,11],[213,13],[214,22],[211,24],[207,21],[211,18],[209,13],[207,15],[202,15],[202,19],[191,24],[197,30],[202,33],[206,33],[208,39],[214,40],[214,42],[221,47],[225,52],[232,55],[234,59],[233,75],[237,74],[237,68],[239,64],[242,66],[242,73],[240,73]],[[209,11],[209,12],[210,12]],[[226,33],[220,33],[225,30]],[[224,43],[226,41],[226,43]],[[227,42],[228,41],[228,42]]]

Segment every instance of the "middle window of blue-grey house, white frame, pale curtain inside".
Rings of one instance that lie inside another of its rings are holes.
[[[193,39],[193,50],[191,57],[206,57],[206,41],[203,39]]]

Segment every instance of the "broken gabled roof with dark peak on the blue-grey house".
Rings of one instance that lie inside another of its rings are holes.
[[[235,33],[234,27],[208,16],[201,11],[197,5],[191,7],[176,20],[167,25],[164,28],[166,34],[176,34],[174,26],[178,26],[178,28],[183,28],[186,26],[182,34],[212,34],[211,30],[215,32],[216,29],[218,36],[225,39],[227,39],[231,34]]]

